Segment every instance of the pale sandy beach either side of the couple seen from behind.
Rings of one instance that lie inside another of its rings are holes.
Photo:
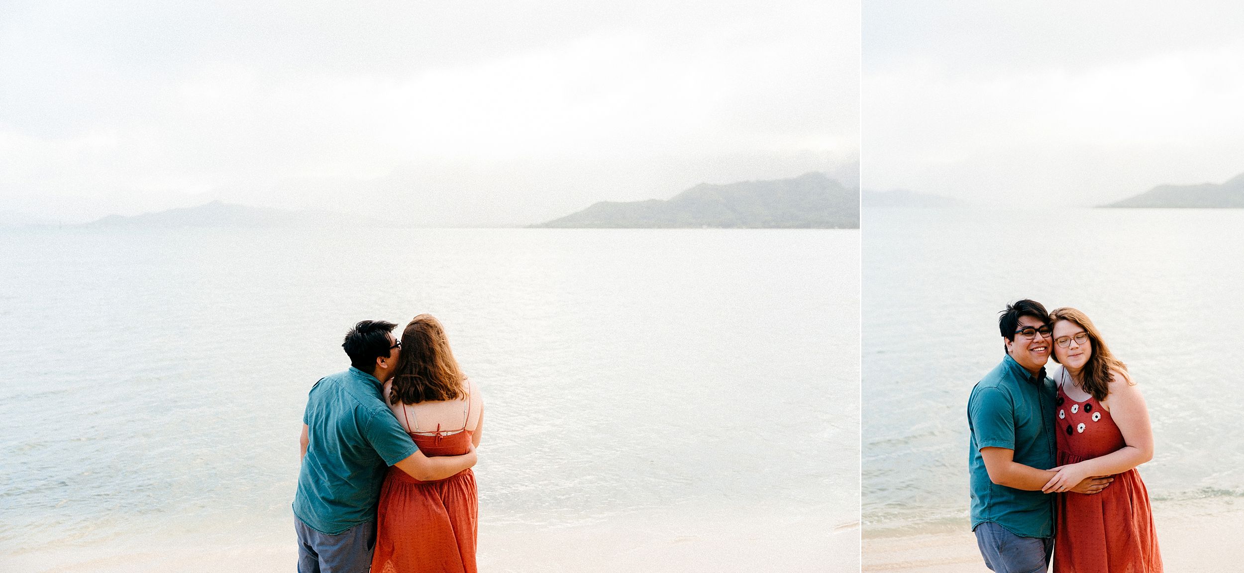
[[[577,526],[480,525],[480,571],[855,573],[860,527],[826,526],[811,517],[705,520],[704,516],[631,516]],[[0,557],[0,571],[24,573],[294,571],[292,526],[251,542],[207,543],[193,536],[154,536],[87,547],[49,547]]]

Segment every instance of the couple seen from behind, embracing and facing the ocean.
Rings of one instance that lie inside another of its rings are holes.
[[[302,415],[299,573],[474,573],[479,389],[430,314],[363,321]]]

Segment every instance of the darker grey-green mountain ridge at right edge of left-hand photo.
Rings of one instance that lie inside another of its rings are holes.
[[[791,179],[702,183],[668,200],[601,201],[536,227],[858,229],[860,194],[824,173]]]

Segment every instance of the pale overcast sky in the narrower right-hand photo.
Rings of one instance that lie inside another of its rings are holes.
[[[862,173],[1093,205],[1244,172],[1244,4],[866,0]]]

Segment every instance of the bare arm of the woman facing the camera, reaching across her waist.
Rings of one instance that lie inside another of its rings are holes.
[[[1059,472],[1041,491],[1067,491],[1069,485],[1074,486],[1086,476],[1122,474],[1153,459],[1153,428],[1149,425],[1149,409],[1144,405],[1144,397],[1126,374],[1112,374],[1107,411],[1123,434],[1126,445],[1101,457],[1059,467]]]

